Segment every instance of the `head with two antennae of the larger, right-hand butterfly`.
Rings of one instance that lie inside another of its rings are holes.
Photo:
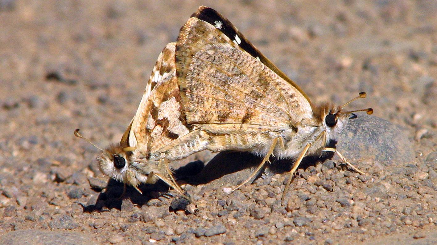
[[[356,99],[365,98],[366,93],[361,92],[356,98],[351,99],[349,102],[342,106],[333,106],[329,104],[325,104],[320,106],[318,109],[319,119],[321,120],[324,132],[326,132],[326,143],[329,143],[329,140],[335,140],[336,136],[343,131],[344,127],[347,124],[347,121],[351,118],[357,117],[353,112],[367,112],[368,115],[373,113],[373,109],[360,109],[353,111],[344,111],[344,107],[353,102]]]

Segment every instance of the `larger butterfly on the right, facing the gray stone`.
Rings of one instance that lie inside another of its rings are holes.
[[[323,152],[342,132],[352,112],[330,103],[313,105],[308,95],[258,51],[217,11],[201,6],[180,29],[176,74],[187,125],[208,135],[205,149],[245,151],[269,160],[292,159],[293,174],[302,159]],[[292,177],[292,175],[291,175]],[[291,182],[291,177],[288,184]]]

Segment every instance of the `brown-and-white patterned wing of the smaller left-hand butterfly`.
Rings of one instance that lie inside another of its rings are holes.
[[[144,154],[153,154],[190,132],[180,108],[174,55],[175,43],[167,44],[156,61],[135,117],[122,139]]]

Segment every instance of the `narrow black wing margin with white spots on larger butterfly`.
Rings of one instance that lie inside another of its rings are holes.
[[[198,10],[191,15],[191,17],[198,18],[199,20],[203,20],[215,26],[218,30],[220,30],[223,34],[225,34],[229,39],[234,41],[239,45],[241,49],[249,53],[254,58],[259,59],[264,65],[274,71],[277,75],[295,87],[299,92],[302,93],[303,96],[308,100],[311,104],[311,100],[308,95],[302,91],[302,89],[295,84],[284,72],[282,72],[276,65],[274,65],[267,57],[264,56],[253,44],[246,39],[246,37],[241,34],[237,28],[225,17],[219,14],[217,11],[212,8],[201,6]],[[220,28],[218,28],[220,27]]]

